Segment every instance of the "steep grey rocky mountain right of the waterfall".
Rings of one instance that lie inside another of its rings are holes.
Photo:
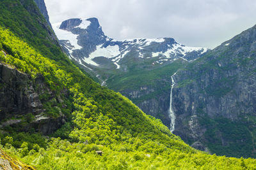
[[[256,157],[256,26],[191,62],[173,80],[174,134],[232,157]]]

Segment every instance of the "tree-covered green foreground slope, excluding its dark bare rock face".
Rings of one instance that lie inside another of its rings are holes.
[[[10,15],[10,24],[0,17],[1,62],[31,75],[32,80],[43,75],[45,83],[56,94],[68,90],[65,115],[69,119],[51,138],[32,132],[17,132],[12,127],[3,129],[1,145],[6,152],[37,169],[256,168],[255,159],[217,157],[189,147],[129,99],[88,78],[47,36],[36,42],[38,45],[33,43],[33,38],[19,36],[19,32],[26,29],[42,31],[38,34],[47,32],[42,25],[36,24],[38,20],[33,20],[34,26],[21,24],[16,27],[15,17],[33,19],[33,10],[26,12],[24,4],[29,4],[29,9],[36,9],[32,0],[22,3],[8,0],[0,4],[1,17],[4,13]],[[10,9],[4,9],[6,6]],[[15,12],[8,13],[12,8],[19,8],[19,16],[14,16]],[[33,37],[40,36],[35,34]],[[46,47],[42,50],[41,46],[55,46],[56,50]]]

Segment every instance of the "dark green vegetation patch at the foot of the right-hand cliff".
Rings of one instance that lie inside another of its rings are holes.
[[[211,152],[229,157],[240,154],[244,157],[253,156],[253,136],[243,122],[204,116],[200,119],[200,124],[207,128],[205,138]],[[224,139],[225,143],[223,143]]]

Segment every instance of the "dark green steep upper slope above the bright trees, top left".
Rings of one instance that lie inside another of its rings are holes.
[[[48,58],[68,62],[67,57],[60,51],[54,32],[36,8],[34,1],[3,0],[0,10],[1,26],[10,29]]]

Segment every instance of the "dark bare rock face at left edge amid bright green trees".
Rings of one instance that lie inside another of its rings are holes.
[[[31,131],[50,134],[65,123],[60,113],[57,118],[48,117],[43,107],[42,95],[54,92],[44,83],[44,77],[36,80],[7,64],[0,63],[0,127],[17,127],[19,131]]]

